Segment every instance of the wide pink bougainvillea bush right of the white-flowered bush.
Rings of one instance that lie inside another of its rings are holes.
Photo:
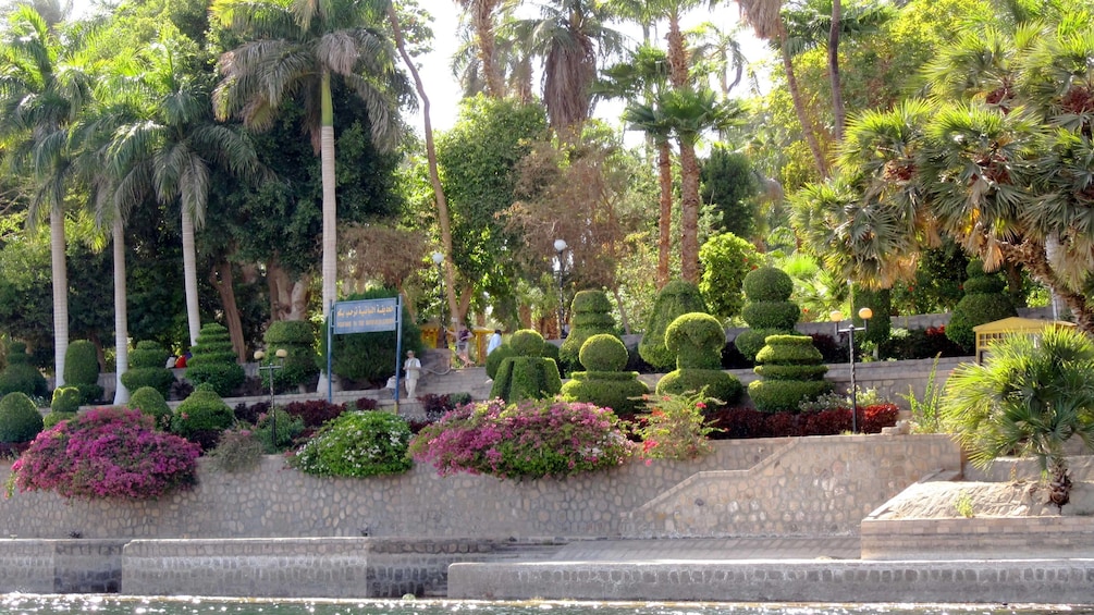
[[[466,405],[423,428],[410,442],[415,461],[442,476],[467,472],[499,478],[565,478],[621,464],[633,444],[608,408],[580,402],[491,399]]]

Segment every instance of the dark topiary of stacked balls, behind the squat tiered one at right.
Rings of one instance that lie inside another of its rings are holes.
[[[733,345],[742,356],[755,361],[769,336],[795,334],[794,325],[802,312],[790,301],[794,281],[782,269],[753,269],[745,276],[742,288],[748,302],[741,310],[741,316],[749,328],[741,332]]]

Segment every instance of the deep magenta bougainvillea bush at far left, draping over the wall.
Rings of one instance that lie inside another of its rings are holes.
[[[12,465],[8,490],[153,499],[194,485],[200,452],[140,410],[95,408],[39,433]]]

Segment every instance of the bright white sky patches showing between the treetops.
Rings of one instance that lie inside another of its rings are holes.
[[[426,95],[430,100],[430,119],[433,129],[443,131],[455,124],[459,109],[459,84],[450,68],[450,58],[458,46],[459,9],[454,0],[420,0],[420,2],[422,8],[433,15],[434,36],[432,53],[420,59],[420,73],[426,86]],[[86,12],[93,3],[94,0],[73,0],[75,15]],[[714,23],[723,31],[731,31],[738,23],[737,7],[730,3],[713,11],[693,11],[685,18],[684,27],[693,27],[706,21]],[[635,38],[640,37],[640,30],[637,27],[622,27],[620,30]],[[663,36],[663,33],[659,33],[659,35]],[[753,37],[747,27],[742,28],[738,39],[742,42],[744,54],[749,61],[756,61],[769,55],[765,45]],[[738,91],[744,93],[745,89],[738,86]],[[596,106],[596,116],[613,126],[620,124],[621,113],[621,102],[602,102]],[[422,134],[420,114],[408,118],[408,121],[418,134]]]

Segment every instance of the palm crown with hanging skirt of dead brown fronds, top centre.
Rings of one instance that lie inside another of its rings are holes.
[[[559,135],[574,129],[592,113],[596,58],[622,47],[622,36],[606,25],[607,11],[591,0],[554,0],[540,18],[513,22],[517,39],[544,58],[544,104]]]

